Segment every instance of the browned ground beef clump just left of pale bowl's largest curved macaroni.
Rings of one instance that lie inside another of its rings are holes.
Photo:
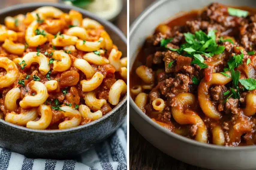
[[[174,94],[187,92],[189,90],[189,76],[176,74],[175,78],[166,79],[165,85],[170,87]]]

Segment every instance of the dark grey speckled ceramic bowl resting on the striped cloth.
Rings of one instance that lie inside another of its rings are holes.
[[[111,36],[114,44],[127,56],[127,39],[124,34],[110,22],[77,7],[57,3],[20,4],[0,10],[0,23],[6,16],[27,13],[38,7],[51,5],[69,12],[78,10],[83,17],[89,17],[100,22]],[[127,114],[127,96],[108,114],[98,120],[75,128],[64,130],[33,130],[14,125],[0,119],[0,146],[29,157],[66,158],[79,154],[93,144],[109,137],[124,122]]]

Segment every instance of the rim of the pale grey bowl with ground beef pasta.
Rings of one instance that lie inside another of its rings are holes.
[[[154,12],[158,7],[164,5],[165,3],[172,1],[172,0],[158,0],[150,4],[132,23],[130,27],[130,32],[129,32],[129,43],[131,43],[131,39],[137,30],[138,25],[141,24],[141,22],[147,18],[147,16]],[[170,16],[171,17],[171,16]],[[139,48],[138,48],[139,49]],[[138,50],[136,49],[136,50]],[[131,63],[131,59],[134,58],[135,56],[132,57],[133,54],[129,53],[129,66],[132,68],[133,63]],[[157,130],[167,134],[168,136],[171,136],[175,138],[176,140],[180,140],[181,142],[188,143],[192,146],[195,147],[203,147],[203,148],[208,148],[208,149],[214,149],[214,150],[225,150],[225,151],[245,151],[245,150],[251,150],[251,149],[256,149],[255,145],[249,145],[249,146],[235,146],[235,147],[227,147],[227,146],[219,146],[219,145],[214,145],[214,144],[209,144],[209,143],[201,143],[196,140],[189,139],[187,137],[183,137],[179,134],[176,134],[172,131],[167,130],[166,128],[162,127],[158,123],[152,121],[150,117],[148,117],[144,112],[142,112],[138,106],[135,104],[133,101],[131,95],[129,94],[129,105],[132,106],[132,108],[137,112],[137,114],[144,119],[147,123],[149,123],[151,126],[156,128]],[[136,114],[136,113],[135,113]],[[130,118],[131,119],[131,118]]]

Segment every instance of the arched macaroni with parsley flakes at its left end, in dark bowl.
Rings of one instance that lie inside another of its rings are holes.
[[[49,58],[47,58],[42,53],[39,53],[37,55],[37,52],[29,52],[25,56],[23,56],[22,60],[25,61],[25,63],[22,63],[21,65],[25,67],[30,67],[33,62],[37,62],[39,64],[39,71],[41,74],[46,75],[50,71]]]

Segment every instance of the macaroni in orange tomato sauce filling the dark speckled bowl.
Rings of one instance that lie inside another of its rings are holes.
[[[104,27],[44,6],[0,25],[0,117],[65,129],[107,114],[127,91],[127,58]]]

